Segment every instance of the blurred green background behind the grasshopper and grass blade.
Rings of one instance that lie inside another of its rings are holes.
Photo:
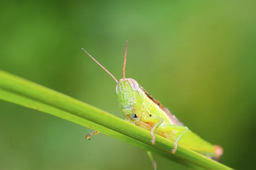
[[[122,117],[117,79],[139,82],[192,131],[255,166],[256,1],[2,1],[0,69]],[[0,101],[1,170],[153,170],[144,150]],[[154,156],[158,170],[185,170]]]

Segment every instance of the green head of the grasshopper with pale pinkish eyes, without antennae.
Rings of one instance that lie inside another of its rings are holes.
[[[136,118],[133,103],[136,100],[139,84],[134,79],[120,79],[116,85],[119,108],[127,119]]]

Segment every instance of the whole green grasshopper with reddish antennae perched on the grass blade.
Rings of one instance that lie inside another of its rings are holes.
[[[179,143],[180,146],[201,153],[210,159],[218,160],[223,153],[222,147],[210,144],[204,139],[201,139],[198,135],[189,130],[188,127],[183,126],[183,124],[170,113],[167,108],[148,94],[148,92],[146,92],[134,79],[125,78],[127,45],[128,41],[125,46],[123,78],[120,79],[119,82],[106,68],[82,48],[86,54],[88,54],[116,81],[116,94],[118,96],[119,108],[122,115],[125,116],[125,119],[134,125],[151,131],[152,144],[155,144],[154,134],[158,134],[175,142],[174,149],[172,149],[173,154],[175,154]],[[90,139],[91,135],[96,135],[98,133],[99,131],[89,133],[86,136],[86,139]],[[147,153],[152,161],[154,170],[156,170],[157,164],[151,153]]]

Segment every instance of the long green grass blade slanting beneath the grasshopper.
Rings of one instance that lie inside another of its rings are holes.
[[[232,170],[185,147],[172,154],[174,142],[156,135],[151,144],[150,132],[123,119],[90,106],[70,96],[58,93],[33,82],[0,70],[0,99],[66,119],[99,130],[143,150],[172,159],[196,169]]]

